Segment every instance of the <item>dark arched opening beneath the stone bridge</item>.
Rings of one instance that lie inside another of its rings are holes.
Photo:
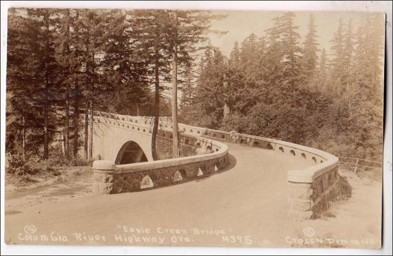
[[[129,141],[121,146],[115,164],[125,165],[140,162],[147,162],[145,153],[137,142]]]

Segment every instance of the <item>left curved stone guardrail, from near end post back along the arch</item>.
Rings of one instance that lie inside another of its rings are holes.
[[[101,112],[96,113],[94,119],[96,122],[135,132],[151,133],[152,130],[150,123],[147,124],[138,117]],[[172,133],[161,129],[158,136],[171,139]],[[93,192],[105,194],[134,192],[197,179],[224,169],[228,154],[228,146],[225,143],[189,133],[180,135],[180,143],[195,148],[205,148],[210,153],[124,165],[97,160],[93,162]]]

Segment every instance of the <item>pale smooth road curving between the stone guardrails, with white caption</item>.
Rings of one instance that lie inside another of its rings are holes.
[[[379,247],[381,215],[375,209],[380,205],[381,183],[360,184],[368,190],[358,184],[362,189],[353,188],[352,198],[337,205],[331,218],[296,222],[286,216],[286,173],[305,167],[304,161],[289,157],[286,161],[271,150],[238,144],[229,144],[229,153],[227,171],[175,186],[116,195],[84,192],[36,204],[26,204],[26,197],[6,200],[5,240],[11,244]],[[360,182],[359,177],[348,181]],[[364,203],[371,210],[356,212],[359,205],[365,209]]]

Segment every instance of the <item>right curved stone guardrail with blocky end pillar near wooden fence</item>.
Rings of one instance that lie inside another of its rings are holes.
[[[146,121],[149,117],[141,119]],[[166,121],[164,127],[170,124],[170,118]],[[327,201],[330,200],[331,192],[338,185],[338,158],[325,151],[291,142],[240,134],[235,131],[225,132],[185,124],[179,124],[179,130],[191,134],[197,133],[214,140],[271,149],[280,154],[290,154],[292,157],[310,161],[313,164],[311,167],[287,172],[288,215],[294,219],[308,219],[314,213],[323,211]]]

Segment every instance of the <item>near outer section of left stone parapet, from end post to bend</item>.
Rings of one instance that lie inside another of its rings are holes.
[[[184,160],[177,158],[117,166],[111,161],[94,161],[93,192],[104,194],[134,192],[187,182],[223,171],[227,162],[227,151],[214,157],[205,157],[208,155],[210,154],[200,155],[197,158],[184,157],[188,158]],[[190,161],[190,158],[194,158],[193,161]],[[151,183],[143,187],[144,180],[149,180]]]

